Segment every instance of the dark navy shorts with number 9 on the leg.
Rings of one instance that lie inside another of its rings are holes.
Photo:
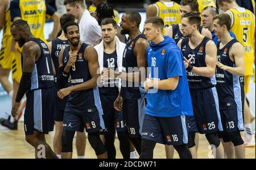
[[[63,129],[69,131],[97,132],[101,130],[100,115],[95,106],[84,114],[72,113],[72,111],[64,111]]]

